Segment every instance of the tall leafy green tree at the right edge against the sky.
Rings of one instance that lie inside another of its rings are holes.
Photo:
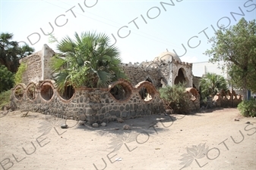
[[[229,28],[221,27],[210,39],[212,48],[206,51],[210,61],[224,61],[232,85],[256,91],[256,23],[239,20]]]

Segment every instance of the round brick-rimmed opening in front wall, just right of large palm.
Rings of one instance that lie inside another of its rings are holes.
[[[131,96],[131,89],[122,84],[115,85],[109,92],[116,100],[126,100]]]

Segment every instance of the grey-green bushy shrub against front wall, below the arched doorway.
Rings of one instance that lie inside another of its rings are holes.
[[[166,109],[174,110],[175,113],[189,113],[189,100],[185,93],[185,84],[166,86],[160,88],[159,91]]]

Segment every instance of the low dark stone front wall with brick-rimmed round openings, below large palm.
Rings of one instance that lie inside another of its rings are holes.
[[[119,80],[109,88],[77,88],[73,96],[65,100],[55,88],[52,80],[19,84],[12,89],[11,105],[19,110],[31,110],[54,115],[63,119],[109,122],[116,118],[135,118],[164,113],[159,93],[150,82],[140,82],[132,86],[128,81]],[[125,97],[116,99],[111,89],[121,85]],[[150,100],[141,97],[141,89],[147,89]]]

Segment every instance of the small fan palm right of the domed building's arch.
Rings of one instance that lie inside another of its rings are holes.
[[[215,73],[206,73],[200,80],[201,97],[213,97],[217,92],[221,90],[226,91],[226,80],[223,76],[216,75]]]

